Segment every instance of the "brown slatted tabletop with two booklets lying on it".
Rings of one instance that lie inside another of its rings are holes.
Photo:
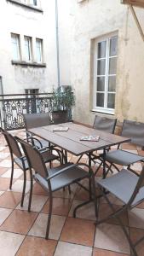
[[[53,131],[54,128],[58,126],[66,126],[69,129],[68,131]],[[130,138],[113,135],[104,131],[85,127],[84,125],[77,125],[72,122],[61,125],[47,125],[32,128],[28,131],[75,155],[90,153],[118,143],[130,142]],[[100,139],[98,142],[80,141],[81,137],[89,135],[100,136]]]

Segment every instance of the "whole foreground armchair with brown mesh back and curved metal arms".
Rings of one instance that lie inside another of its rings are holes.
[[[65,188],[72,183],[78,183],[84,178],[88,178],[89,182],[92,184],[94,201],[95,201],[95,178],[91,168],[85,164],[72,164],[66,163],[65,165],[61,165],[59,167],[49,169],[45,166],[42,155],[39,153],[37,148],[32,148],[32,146],[25,141],[20,140],[20,143],[25,151],[29,166],[30,172],[32,175],[32,169],[35,171],[33,174],[33,178],[35,181],[42,186],[49,194],[49,215],[48,215],[48,223],[46,227],[46,236],[45,238],[49,238],[49,227],[50,220],[52,215],[52,207],[53,207],[53,192],[56,190]],[[89,169],[89,172],[84,171],[80,166],[86,166]],[[83,186],[83,185],[82,185]],[[83,186],[84,187],[84,186]],[[32,187],[30,191],[29,197],[29,211],[31,210],[31,202],[32,202]],[[97,216],[97,208],[95,206],[95,214]]]

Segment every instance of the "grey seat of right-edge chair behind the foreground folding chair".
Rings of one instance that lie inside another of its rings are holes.
[[[129,166],[135,162],[144,160],[144,156],[118,149],[108,152],[106,154],[106,160],[113,164]]]

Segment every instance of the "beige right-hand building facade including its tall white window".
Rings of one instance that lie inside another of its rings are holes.
[[[144,31],[144,9],[135,13]],[[144,122],[144,44],[130,8],[120,0],[81,0],[74,14],[75,119],[92,125],[99,114]]]

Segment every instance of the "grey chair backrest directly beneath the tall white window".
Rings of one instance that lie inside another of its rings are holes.
[[[116,123],[117,123],[117,119],[108,119],[106,117],[95,115],[93,128],[96,130],[114,133]]]

